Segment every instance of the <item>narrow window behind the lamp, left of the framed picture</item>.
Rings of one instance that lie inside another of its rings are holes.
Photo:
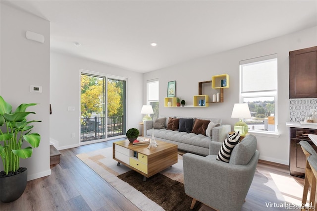
[[[152,80],[147,83],[147,105],[153,108],[152,119],[159,118],[159,81]]]

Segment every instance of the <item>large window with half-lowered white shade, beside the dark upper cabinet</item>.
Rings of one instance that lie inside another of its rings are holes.
[[[249,131],[277,132],[277,54],[240,61],[240,103],[248,103]]]

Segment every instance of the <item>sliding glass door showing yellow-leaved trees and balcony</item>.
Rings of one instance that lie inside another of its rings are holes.
[[[81,74],[80,141],[123,135],[125,81]]]

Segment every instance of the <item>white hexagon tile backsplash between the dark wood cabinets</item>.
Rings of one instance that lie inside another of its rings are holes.
[[[311,109],[317,109],[317,98],[289,99],[289,120],[304,121],[305,116],[311,115]]]

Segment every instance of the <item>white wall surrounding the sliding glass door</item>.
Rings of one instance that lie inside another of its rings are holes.
[[[141,129],[142,74],[106,64],[51,52],[51,99],[53,114],[50,118],[50,137],[57,149],[79,146],[80,143],[80,71],[127,78],[127,124]],[[75,107],[68,111],[68,106]],[[75,138],[71,138],[75,133]]]

